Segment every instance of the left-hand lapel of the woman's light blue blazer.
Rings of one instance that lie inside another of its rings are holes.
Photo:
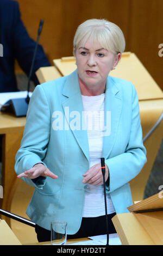
[[[79,147],[82,149],[86,159],[89,161],[89,143],[83,118],[84,108],[77,70],[67,77],[62,94],[65,96],[65,100],[62,102],[62,107],[67,120],[67,129],[72,131]]]

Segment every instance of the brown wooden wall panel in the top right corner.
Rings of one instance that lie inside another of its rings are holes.
[[[163,90],[163,57],[158,54],[163,38],[162,13],[162,0],[131,0],[128,44]]]

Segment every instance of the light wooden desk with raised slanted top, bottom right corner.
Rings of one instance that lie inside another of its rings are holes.
[[[128,207],[111,220],[122,245],[163,245],[163,198],[160,193]]]

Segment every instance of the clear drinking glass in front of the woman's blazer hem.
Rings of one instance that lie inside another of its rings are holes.
[[[65,221],[51,222],[51,244],[66,245],[67,223]]]

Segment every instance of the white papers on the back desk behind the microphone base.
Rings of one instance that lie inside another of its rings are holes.
[[[31,97],[32,93],[29,92],[29,97]],[[2,105],[11,99],[24,98],[27,97],[27,90],[22,92],[14,92],[14,93],[0,93],[0,109]]]

